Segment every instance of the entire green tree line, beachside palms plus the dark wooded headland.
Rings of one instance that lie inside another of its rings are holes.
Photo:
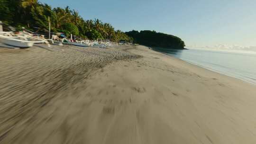
[[[78,11],[65,8],[51,8],[50,5],[38,0],[0,0],[0,21],[7,26],[17,29],[26,27],[28,30],[46,32],[48,22],[51,23],[52,32],[63,32],[66,36],[73,34],[87,39],[103,39],[113,42],[120,40],[133,42],[140,45],[164,48],[183,49],[185,44],[177,36],[157,33],[155,31],[130,31],[115,30],[110,23],[103,23],[99,19],[85,20]],[[38,30],[39,29],[39,30]]]

